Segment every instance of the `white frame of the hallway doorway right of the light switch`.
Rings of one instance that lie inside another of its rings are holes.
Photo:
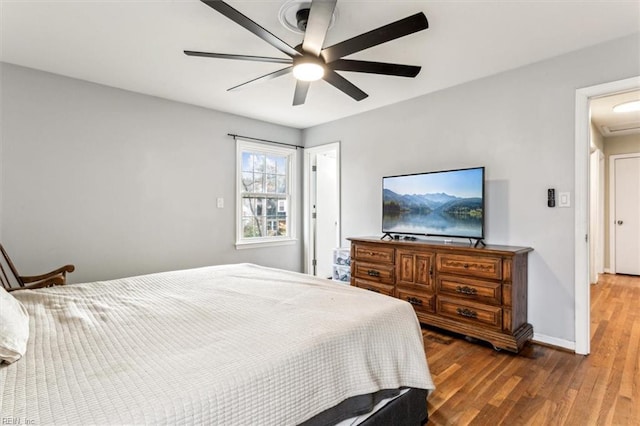
[[[591,99],[640,88],[640,76],[576,90],[574,179],[574,287],[575,352],[587,355],[591,349],[591,297],[589,294],[589,154]]]

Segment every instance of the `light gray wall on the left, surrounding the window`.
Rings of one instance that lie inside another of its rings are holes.
[[[302,269],[301,243],[235,249],[226,136],[300,144],[300,130],[0,66],[0,235],[21,273],[74,263],[70,281],[82,282],[245,261]]]

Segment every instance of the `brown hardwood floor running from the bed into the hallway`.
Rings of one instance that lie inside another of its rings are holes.
[[[424,329],[436,390],[428,425],[640,425],[640,277],[591,286],[591,354],[518,355]]]

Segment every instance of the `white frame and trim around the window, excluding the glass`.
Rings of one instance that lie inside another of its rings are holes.
[[[289,202],[287,215],[287,235],[245,238],[242,229],[242,153],[252,152],[287,157],[287,193]],[[296,193],[297,152],[295,148],[274,146],[264,143],[236,140],[236,249],[257,248],[294,244],[296,242],[296,215],[298,204]]]

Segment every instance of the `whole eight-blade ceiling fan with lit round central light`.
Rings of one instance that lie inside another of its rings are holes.
[[[371,74],[383,74],[399,77],[415,77],[420,72],[419,66],[390,64],[385,62],[360,61],[343,59],[361,50],[422,31],[429,27],[427,17],[419,12],[415,15],[376,28],[359,36],[350,38],[333,46],[323,47],[327,31],[336,7],[337,0],[312,0],[310,7],[302,8],[296,13],[297,26],[304,31],[302,44],[292,47],[278,37],[247,18],[242,13],[222,0],[200,0],[207,6],[231,19],[238,25],[251,31],[289,58],[265,56],[231,55],[225,53],[208,53],[185,50],[189,56],[207,58],[239,59],[245,61],[273,62],[288,64],[286,68],[271,72],[253,80],[234,86],[228,90],[237,90],[249,85],[280,77],[293,72],[296,88],[293,105],[302,105],[307,97],[312,81],[323,79],[335,88],[361,101],[368,95],[353,83],[339,75],[336,71],[354,71]]]

